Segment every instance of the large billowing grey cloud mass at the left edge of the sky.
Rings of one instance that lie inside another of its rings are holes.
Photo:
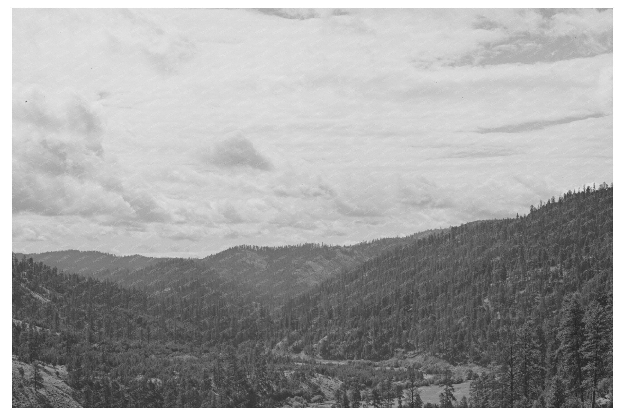
[[[145,190],[124,186],[103,148],[101,106],[71,89],[13,87],[13,212],[169,220]]]

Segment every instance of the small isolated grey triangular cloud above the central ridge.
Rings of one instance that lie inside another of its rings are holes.
[[[273,169],[271,162],[257,152],[240,131],[231,133],[225,140],[217,143],[209,160],[224,168],[251,167],[266,171]]]

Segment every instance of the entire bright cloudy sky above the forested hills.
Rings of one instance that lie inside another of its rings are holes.
[[[611,9],[12,11],[13,251],[352,244],[612,162]]]

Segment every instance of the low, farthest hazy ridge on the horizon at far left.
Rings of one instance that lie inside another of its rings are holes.
[[[137,271],[150,264],[158,263],[163,258],[145,257],[139,254],[132,256],[116,256],[115,254],[102,253],[101,251],[62,250],[47,251],[45,253],[22,254],[15,253],[21,259],[32,257],[35,262],[56,267],[66,273],[82,274],[96,278],[106,278],[119,271]]]

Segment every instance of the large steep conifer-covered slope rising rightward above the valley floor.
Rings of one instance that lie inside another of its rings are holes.
[[[282,326],[296,353],[488,363],[506,331],[531,320],[552,336],[564,297],[587,304],[611,285],[612,188],[600,186],[387,251],[291,299]]]

